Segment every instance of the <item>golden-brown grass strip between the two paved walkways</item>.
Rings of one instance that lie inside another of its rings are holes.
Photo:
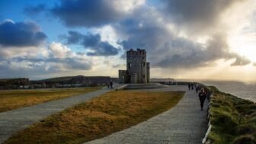
[[[111,91],[11,136],[14,143],[82,143],[124,130],[174,107],[184,92]]]

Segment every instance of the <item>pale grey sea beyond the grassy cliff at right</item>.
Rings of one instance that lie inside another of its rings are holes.
[[[238,98],[256,102],[256,82],[236,82],[236,81],[200,81],[204,85],[213,85],[219,89]]]

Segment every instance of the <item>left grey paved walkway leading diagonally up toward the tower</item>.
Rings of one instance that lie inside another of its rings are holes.
[[[120,86],[122,85],[116,85],[117,88]],[[103,88],[88,94],[81,94],[75,97],[63,98],[30,107],[23,107],[17,110],[2,112],[0,113],[0,143],[4,142],[11,134],[18,130],[22,130],[33,123],[43,120],[43,118],[56,114],[75,104],[88,101],[108,91],[111,90]]]

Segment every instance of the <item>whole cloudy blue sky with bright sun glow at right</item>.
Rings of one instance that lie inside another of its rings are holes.
[[[0,78],[118,77],[137,48],[151,78],[256,81],[256,2],[0,1]]]

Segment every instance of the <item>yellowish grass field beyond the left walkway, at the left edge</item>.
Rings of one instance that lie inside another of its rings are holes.
[[[96,91],[101,87],[0,91],[0,112]]]

